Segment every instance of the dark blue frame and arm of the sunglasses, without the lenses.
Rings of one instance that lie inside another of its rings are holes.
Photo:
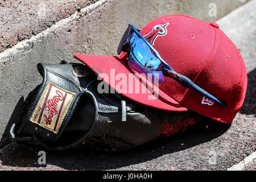
[[[164,76],[170,77],[170,78],[174,79],[175,81],[177,81],[184,88],[192,89],[195,92],[200,93],[204,97],[207,97],[210,100],[216,102],[217,104],[226,107],[226,104],[224,102],[218,100],[218,98],[212,96],[212,94],[210,94],[207,91],[205,91],[204,89],[200,88],[200,86],[193,83],[188,77],[185,77],[185,76],[180,75],[179,73],[175,72],[174,69],[172,69],[171,66],[169,64],[167,64],[166,61],[164,61],[162,59],[159,52],[156,51],[156,49],[144,38],[144,36],[139,33],[140,29],[135,28],[133,26],[133,24],[128,24],[128,26],[130,26],[133,29],[133,31],[135,32],[135,34],[137,34],[139,36],[139,38],[141,38],[150,47],[150,49],[152,50],[152,52],[154,53],[156,58],[158,58],[163,63],[162,72],[163,72]],[[130,38],[130,36],[131,35],[129,32],[129,34],[127,36],[127,40],[126,40],[127,42],[125,43],[125,44],[127,44],[127,43],[129,44],[129,50],[127,52],[130,51],[130,46],[131,46],[131,43],[129,42],[130,40],[128,40],[128,38]],[[123,44],[123,46],[125,44]],[[126,52],[126,51],[123,51],[123,52]]]

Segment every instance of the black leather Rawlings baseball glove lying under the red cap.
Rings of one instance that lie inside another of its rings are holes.
[[[126,150],[183,133],[200,114],[171,112],[133,102],[118,93],[99,93],[97,76],[83,64],[38,64],[43,77],[26,98],[14,142],[47,150],[96,145]]]

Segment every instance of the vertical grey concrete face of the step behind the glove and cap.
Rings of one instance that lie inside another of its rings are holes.
[[[212,2],[217,5],[217,16],[209,17]],[[143,27],[150,20],[167,14],[185,14],[212,22],[244,2],[101,0],[6,49],[0,53],[0,138],[7,122],[15,115],[15,105],[42,81],[36,70],[37,63],[75,61],[74,53],[115,55],[128,23]]]

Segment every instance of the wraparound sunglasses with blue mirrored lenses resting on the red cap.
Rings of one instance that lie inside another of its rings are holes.
[[[153,83],[164,81],[164,76],[177,81],[184,88],[189,88],[204,97],[226,107],[226,104],[200,86],[193,83],[188,77],[180,75],[171,68],[159,55],[158,51],[139,33],[139,29],[129,24],[120,40],[117,54],[127,52],[128,66],[134,71],[144,74]]]

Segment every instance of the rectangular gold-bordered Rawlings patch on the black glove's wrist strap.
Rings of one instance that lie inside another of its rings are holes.
[[[47,85],[30,121],[57,134],[76,94],[52,84]]]

